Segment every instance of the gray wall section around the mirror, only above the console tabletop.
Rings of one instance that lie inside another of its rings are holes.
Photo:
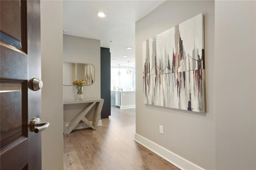
[[[84,86],[84,99],[100,98],[100,40],[63,35],[63,62],[89,63],[95,69],[95,81]],[[77,97],[75,86],[63,85],[64,100]]]

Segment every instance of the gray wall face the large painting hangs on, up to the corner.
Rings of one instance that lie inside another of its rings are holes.
[[[142,42],[200,13],[204,14],[207,113],[145,105]],[[136,134],[202,168],[215,169],[214,117],[214,1],[166,1],[136,22]],[[159,133],[159,125],[164,134]]]

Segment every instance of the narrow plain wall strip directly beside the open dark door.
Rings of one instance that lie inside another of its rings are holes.
[[[42,170],[63,169],[62,1],[41,1]]]

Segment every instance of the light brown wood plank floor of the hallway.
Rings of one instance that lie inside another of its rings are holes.
[[[64,170],[178,170],[134,141],[135,109],[112,107],[96,130],[64,135]]]

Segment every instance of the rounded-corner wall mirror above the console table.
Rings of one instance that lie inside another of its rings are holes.
[[[73,85],[73,80],[84,80],[85,85],[94,83],[94,66],[84,63],[63,63],[63,85]]]

